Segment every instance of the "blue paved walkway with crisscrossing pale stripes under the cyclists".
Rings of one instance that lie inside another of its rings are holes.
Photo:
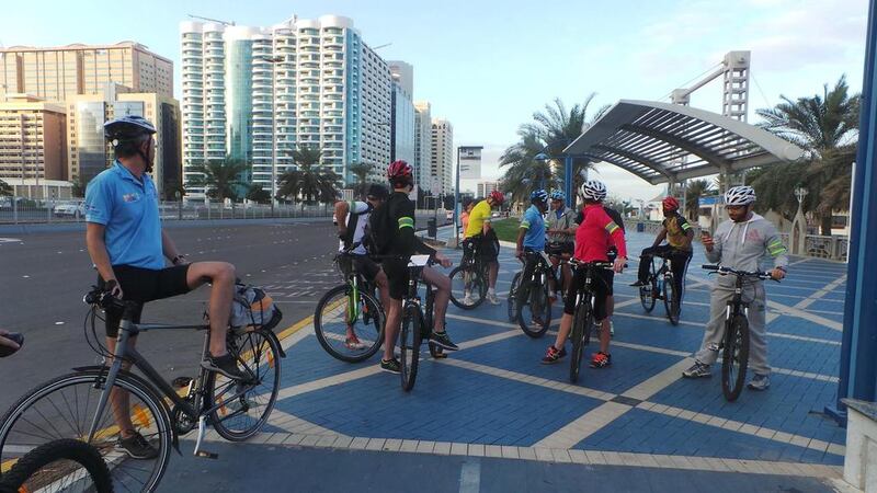
[[[629,250],[637,253],[651,240],[633,233]],[[520,263],[509,249],[500,261],[502,295]],[[508,323],[504,305],[472,311],[452,307],[448,331],[463,351],[444,360],[422,359],[410,393],[401,391],[398,376],[377,369],[379,356],[358,365],[335,360],[306,326],[285,341],[289,357],[277,411],[253,446],[839,477],[845,431],[822,409],[836,390],[845,265],[794,259],[789,277],[767,287],[772,387],[744,390],[728,403],[717,377],[681,378],[699,346],[708,310],[709,279],[698,268],[702,263],[698,249],[679,326],[670,325],[663,307],[645,313],[627,286],[633,271],[617,276],[613,366],[583,369],[576,386],[568,382],[566,362],[539,364],[553,335],[525,336]],[[239,454],[218,446],[228,451],[220,462]],[[184,452],[191,448],[184,443]],[[460,460],[454,462],[454,484]],[[607,478],[624,475],[603,471]],[[171,489],[174,478],[182,479],[170,474]]]

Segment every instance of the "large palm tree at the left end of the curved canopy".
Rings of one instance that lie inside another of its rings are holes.
[[[608,110],[603,106],[590,118],[588,106],[594,99],[591,93],[582,104],[572,108],[558,98],[553,104],[546,104],[545,110],[533,114],[533,122],[521,125],[517,135],[521,140],[505,149],[500,158],[500,168],[509,167],[502,179],[502,190],[512,194],[513,200],[526,200],[529,192],[538,186],[539,179],[545,181],[546,188],[558,187],[561,182],[563,149],[600,119]],[[548,160],[540,162],[535,158],[538,153],[548,156]],[[591,168],[586,158],[573,158],[574,186],[582,181],[583,172]],[[574,197],[569,197],[573,205]]]

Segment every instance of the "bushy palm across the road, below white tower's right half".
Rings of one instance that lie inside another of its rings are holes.
[[[338,198],[341,176],[329,167],[320,167],[322,150],[299,147],[293,151],[297,169],[287,170],[281,177],[277,197],[301,197],[305,203],[330,203]]]

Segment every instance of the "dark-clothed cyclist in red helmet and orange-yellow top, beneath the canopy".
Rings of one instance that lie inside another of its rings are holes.
[[[675,197],[665,197],[661,205],[664,209],[664,220],[661,230],[654,238],[651,246],[643,249],[639,256],[639,278],[630,286],[642,287],[649,283],[649,267],[653,256],[668,257],[673,270],[673,282],[676,288],[676,300],[680,310],[682,309],[682,293],[685,289],[685,272],[688,262],[692,260],[692,239],[694,229],[679,214],[679,200]],[[661,244],[667,239],[667,244]]]

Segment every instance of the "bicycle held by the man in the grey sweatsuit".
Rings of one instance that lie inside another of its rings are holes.
[[[728,301],[728,309],[725,311],[725,335],[718,347],[722,352],[721,393],[728,402],[733,402],[743,390],[749,366],[749,301],[743,301],[743,282],[747,278],[778,280],[770,273],[761,271],[736,271],[722,265],[702,265],[701,268],[711,271],[709,274],[737,276],[733,298]]]

